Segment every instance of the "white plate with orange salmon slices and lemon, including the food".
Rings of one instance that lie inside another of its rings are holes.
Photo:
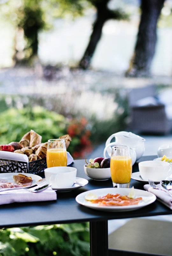
[[[94,189],[76,196],[76,202],[99,211],[124,212],[139,209],[156,200],[156,196],[148,191],[134,189],[134,192],[134,198],[129,198],[130,188]]]

